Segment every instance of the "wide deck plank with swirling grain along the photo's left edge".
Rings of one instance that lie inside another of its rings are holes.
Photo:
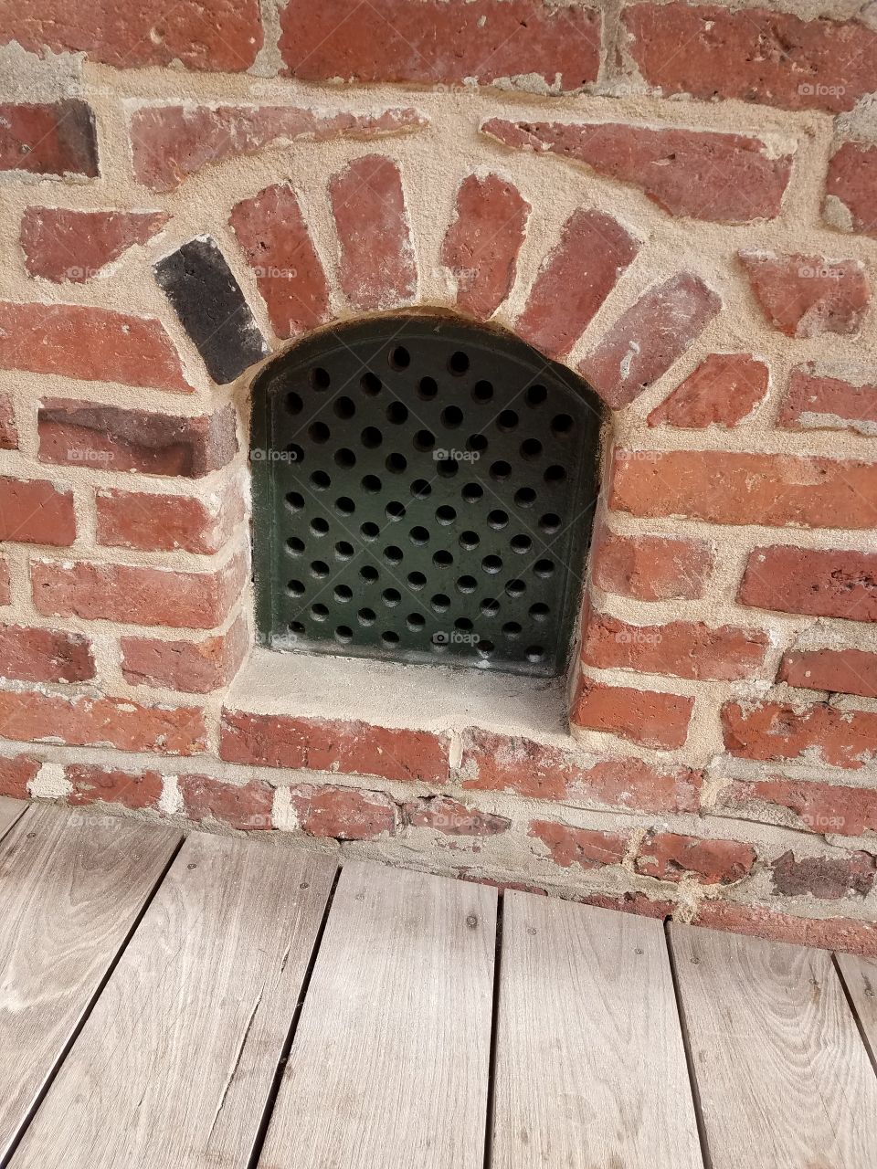
[[[179,842],[33,804],[0,843],[0,1163]]]

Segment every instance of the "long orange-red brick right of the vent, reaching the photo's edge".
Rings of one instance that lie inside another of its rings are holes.
[[[819,455],[617,451],[609,506],[771,527],[877,527],[877,464]]]

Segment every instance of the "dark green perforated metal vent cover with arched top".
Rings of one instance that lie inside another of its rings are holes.
[[[438,316],[326,330],[254,390],[254,561],[272,649],[560,673],[598,399]]]

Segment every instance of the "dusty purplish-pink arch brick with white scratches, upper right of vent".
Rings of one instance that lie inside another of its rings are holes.
[[[719,296],[698,276],[672,276],[621,314],[579,371],[607,406],[628,406],[667,373],[720,307]]]

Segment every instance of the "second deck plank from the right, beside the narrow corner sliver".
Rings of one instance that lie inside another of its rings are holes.
[[[873,1169],[877,1077],[830,954],[670,939],[713,1169]]]

